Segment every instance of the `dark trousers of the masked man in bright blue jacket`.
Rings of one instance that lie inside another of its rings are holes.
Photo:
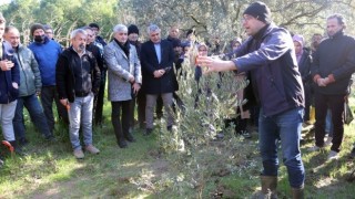
[[[54,116],[52,111],[53,101],[57,105],[57,112],[59,118],[61,118],[65,124],[69,124],[68,112],[65,106],[60,104],[58,98],[58,93],[55,86],[42,86],[41,90],[41,103],[43,106],[44,115],[47,118],[47,123],[51,133],[54,130]]]

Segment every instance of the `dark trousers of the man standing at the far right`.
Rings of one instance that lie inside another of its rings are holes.
[[[334,151],[341,150],[341,145],[344,136],[344,95],[324,95],[321,93],[314,94],[315,105],[315,145],[318,147],[324,146],[325,136],[325,117],[327,108],[332,112],[333,122],[333,140],[331,149]]]

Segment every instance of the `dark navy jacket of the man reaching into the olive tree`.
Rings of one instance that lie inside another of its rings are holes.
[[[251,50],[253,42],[256,50]],[[304,92],[291,34],[270,24],[248,38],[233,60],[239,72],[251,72],[256,101],[265,116],[304,107]]]

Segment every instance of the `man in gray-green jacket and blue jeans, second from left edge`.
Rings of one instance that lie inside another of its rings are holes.
[[[14,27],[7,27],[4,39],[10,42],[13,49],[13,55],[19,63],[20,70],[20,88],[19,98],[13,118],[13,129],[20,145],[26,145],[26,127],[23,121],[23,106],[28,109],[31,121],[40,130],[45,139],[53,139],[53,135],[49,129],[43,108],[38,100],[38,94],[41,92],[42,82],[41,74],[38,69],[38,63],[32,51],[21,44],[20,32]]]

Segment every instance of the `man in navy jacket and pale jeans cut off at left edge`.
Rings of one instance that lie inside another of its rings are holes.
[[[7,144],[16,149],[12,119],[19,96],[20,72],[11,45],[3,41],[6,20],[0,12],[0,124]]]

